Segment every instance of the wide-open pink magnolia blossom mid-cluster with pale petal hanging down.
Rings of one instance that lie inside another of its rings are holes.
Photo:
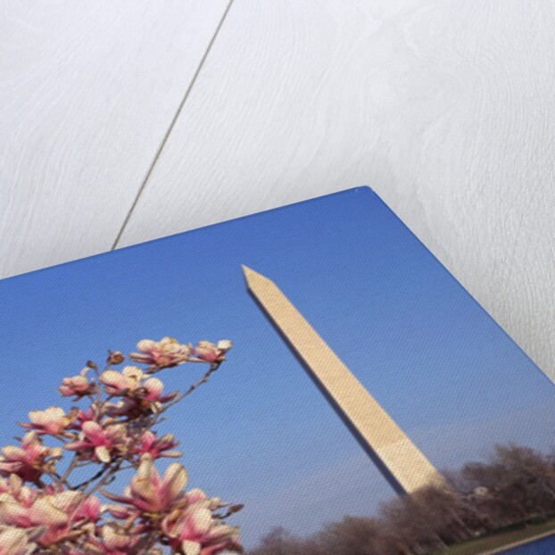
[[[81,427],[79,440],[66,443],[68,451],[79,451],[81,456],[94,456],[100,462],[110,462],[112,456],[122,455],[128,451],[130,439],[123,424],[112,424],[106,420],[104,427],[97,422],[88,421]]]

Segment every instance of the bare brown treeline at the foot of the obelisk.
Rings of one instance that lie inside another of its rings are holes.
[[[388,502],[377,518],[345,517],[308,538],[276,528],[248,555],[425,555],[555,515],[553,455],[498,445],[487,462],[446,474],[451,490],[427,487]]]

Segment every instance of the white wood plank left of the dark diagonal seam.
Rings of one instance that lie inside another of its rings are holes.
[[[227,4],[4,2],[0,276],[110,249]]]

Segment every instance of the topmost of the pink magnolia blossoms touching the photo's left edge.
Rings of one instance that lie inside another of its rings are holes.
[[[21,447],[7,445],[2,449],[0,476],[17,474],[35,482],[44,472],[54,470],[54,459],[61,456],[62,449],[45,447],[37,432],[29,432],[21,439]]]

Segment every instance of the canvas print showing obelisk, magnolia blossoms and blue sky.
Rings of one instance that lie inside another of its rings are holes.
[[[0,555],[555,552],[551,381],[368,187],[0,306]]]

